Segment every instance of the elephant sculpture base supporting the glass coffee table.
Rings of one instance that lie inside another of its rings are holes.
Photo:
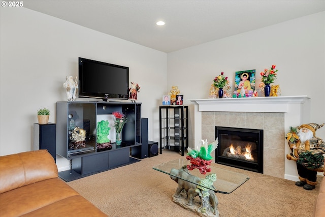
[[[187,210],[197,212],[200,216],[219,216],[217,209],[218,199],[214,191],[206,189],[201,184],[208,184],[210,187],[213,181],[216,180],[215,174],[206,176],[205,179],[191,175],[186,165],[181,169],[171,169],[171,174],[181,177],[170,176],[174,181],[178,183],[176,193],[173,195],[173,201]],[[200,185],[194,183],[201,183]],[[206,185],[207,186],[207,185]],[[197,197],[199,196],[199,197]],[[197,197],[197,198],[196,198]],[[198,199],[200,198],[201,201]]]

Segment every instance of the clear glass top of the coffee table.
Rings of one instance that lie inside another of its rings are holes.
[[[183,166],[190,165],[190,161],[184,159],[177,159],[173,160],[167,163],[159,164],[157,166],[154,166],[153,169],[157,170],[159,172],[166,173],[170,175],[171,177],[176,177],[188,182],[191,182],[193,184],[198,184],[198,182],[191,180],[190,176],[183,176],[180,174],[171,173],[172,169],[181,169]],[[215,193],[222,193],[222,194],[230,194],[233,191],[235,191],[240,185],[242,185],[245,181],[249,179],[247,175],[221,169],[216,167],[217,164],[211,163],[211,166],[208,166],[211,168],[211,172],[207,172],[207,174],[201,174],[198,169],[188,170],[188,173],[192,176],[199,177],[200,179],[204,179],[209,174],[216,174],[217,179],[213,183],[212,187],[206,187]],[[189,178],[187,178],[189,177]]]

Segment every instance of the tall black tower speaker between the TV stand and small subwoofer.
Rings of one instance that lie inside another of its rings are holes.
[[[148,158],[148,118],[141,118],[141,146],[132,148],[132,157]]]

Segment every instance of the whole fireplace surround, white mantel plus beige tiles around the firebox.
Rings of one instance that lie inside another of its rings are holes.
[[[264,174],[297,180],[296,164],[285,156],[289,127],[309,121],[309,98],[200,99],[194,102],[194,142],[215,139],[215,126],[264,130]],[[201,129],[200,129],[201,128]]]

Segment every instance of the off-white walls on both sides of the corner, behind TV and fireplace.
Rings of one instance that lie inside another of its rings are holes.
[[[236,71],[258,74],[273,64],[282,96],[307,95],[310,121],[325,122],[325,12],[166,54],[29,9],[0,10],[1,156],[31,149],[39,108],[48,107],[55,122],[55,102],[66,100],[62,83],[77,75],[79,56],[130,68],[153,141],[159,141],[158,105],[171,86],[186,103],[208,98],[221,71],[233,81]],[[325,138],[325,127],[316,135]]]

